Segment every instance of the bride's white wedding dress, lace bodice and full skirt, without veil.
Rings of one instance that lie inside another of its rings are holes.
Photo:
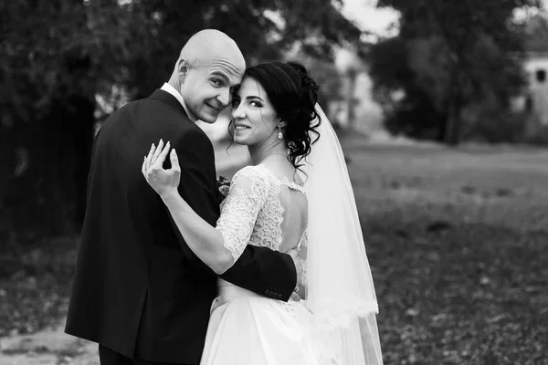
[[[279,178],[264,165],[237,172],[216,225],[235,260],[246,245],[279,251],[284,229],[292,233],[301,230],[298,247],[304,254],[306,227],[284,220],[286,208],[294,206],[284,207],[281,202],[306,203],[304,194],[300,185]],[[304,260],[302,267],[306,268]],[[300,302],[262,297],[220,280],[200,363],[321,365],[308,332],[310,318],[311,313]]]

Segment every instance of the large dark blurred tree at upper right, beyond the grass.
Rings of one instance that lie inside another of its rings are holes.
[[[541,0],[380,0],[400,12],[399,34],[370,48],[377,99],[395,134],[456,145],[462,138],[520,141],[524,23]],[[396,98],[395,98],[396,96]]]

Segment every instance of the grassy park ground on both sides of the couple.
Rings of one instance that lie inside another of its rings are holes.
[[[342,145],[385,364],[548,364],[548,150]],[[0,262],[0,365],[98,363],[96,345],[62,334],[76,243]]]

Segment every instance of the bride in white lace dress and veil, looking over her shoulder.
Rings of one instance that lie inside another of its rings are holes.
[[[233,99],[234,141],[252,165],[238,171],[216,227],[177,192],[169,142],[142,164],[184,236],[222,274],[246,245],[292,253],[300,278],[288,303],[219,279],[203,365],[383,363],[367,262],[341,146],[316,104],[305,68],[273,62],[248,68]],[[169,154],[172,167],[163,169]],[[248,275],[254,275],[249,272]]]

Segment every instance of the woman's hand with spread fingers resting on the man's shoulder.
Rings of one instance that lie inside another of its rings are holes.
[[[160,140],[158,147],[152,145],[151,151],[142,162],[142,175],[154,191],[162,197],[169,193],[177,193],[177,187],[181,180],[181,168],[179,167],[177,153],[174,149],[170,153],[169,149],[170,142],[165,143],[165,146],[163,146],[163,141]],[[169,170],[164,170],[163,162],[168,153],[172,167]]]

